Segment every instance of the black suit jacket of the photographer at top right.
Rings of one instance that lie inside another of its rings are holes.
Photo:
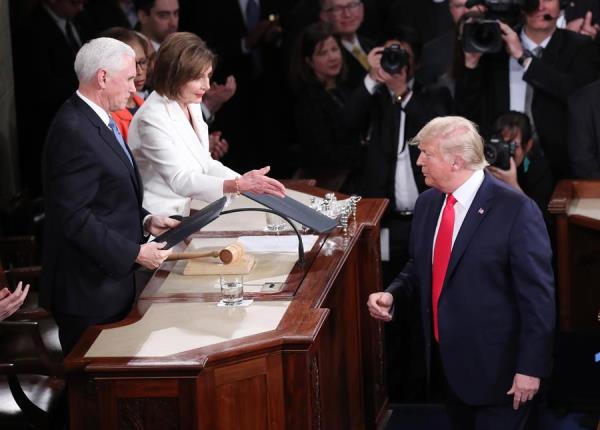
[[[465,70],[456,83],[458,112],[479,124],[484,135],[510,108],[509,57],[484,55],[479,66]],[[567,160],[567,98],[596,79],[600,62],[591,39],[558,29],[540,59],[534,58],[523,79],[533,86],[532,113],[540,143],[555,179],[569,175]]]

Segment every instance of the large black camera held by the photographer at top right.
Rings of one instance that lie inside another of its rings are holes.
[[[521,12],[538,8],[539,0],[469,0],[466,7],[485,6],[485,14],[467,13],[462,18],[461,38],[465,52],[482,54],[500,52],[504,46],[497,20],[515,27]]]

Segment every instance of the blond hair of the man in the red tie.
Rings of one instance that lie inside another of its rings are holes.
[[[410,142],[418,145],[428,139],[439,139],[440,150],[447,157],[459,155],[469,170],[488,165],[483,153],[483,138],[477,125],[461,116],[440,116],[429,121]]]

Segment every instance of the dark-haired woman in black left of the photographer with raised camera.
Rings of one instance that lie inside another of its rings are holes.
[[[359,185],[363,157],[358,130],[342,118],[351,90],[342,84],[341,50],[328,24],[311,24],[298,37],[290,77],[302,176],[316,179],[320,187],[351,194]]]

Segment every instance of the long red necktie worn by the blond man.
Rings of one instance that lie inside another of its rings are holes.
[[[452,251],[452,231],[454,230],[454,203],[456,199],[452,194],[446,196],[446,205],[442,212],[442,220],[438,229],[438,235],[435,238],[433,247],[433,267],[431,281],[431,304],[433,307],[433,335],[435,340],[440,341],[437,323],[437,305],[442,294],[442,286],[450,261],[450,252]]]

